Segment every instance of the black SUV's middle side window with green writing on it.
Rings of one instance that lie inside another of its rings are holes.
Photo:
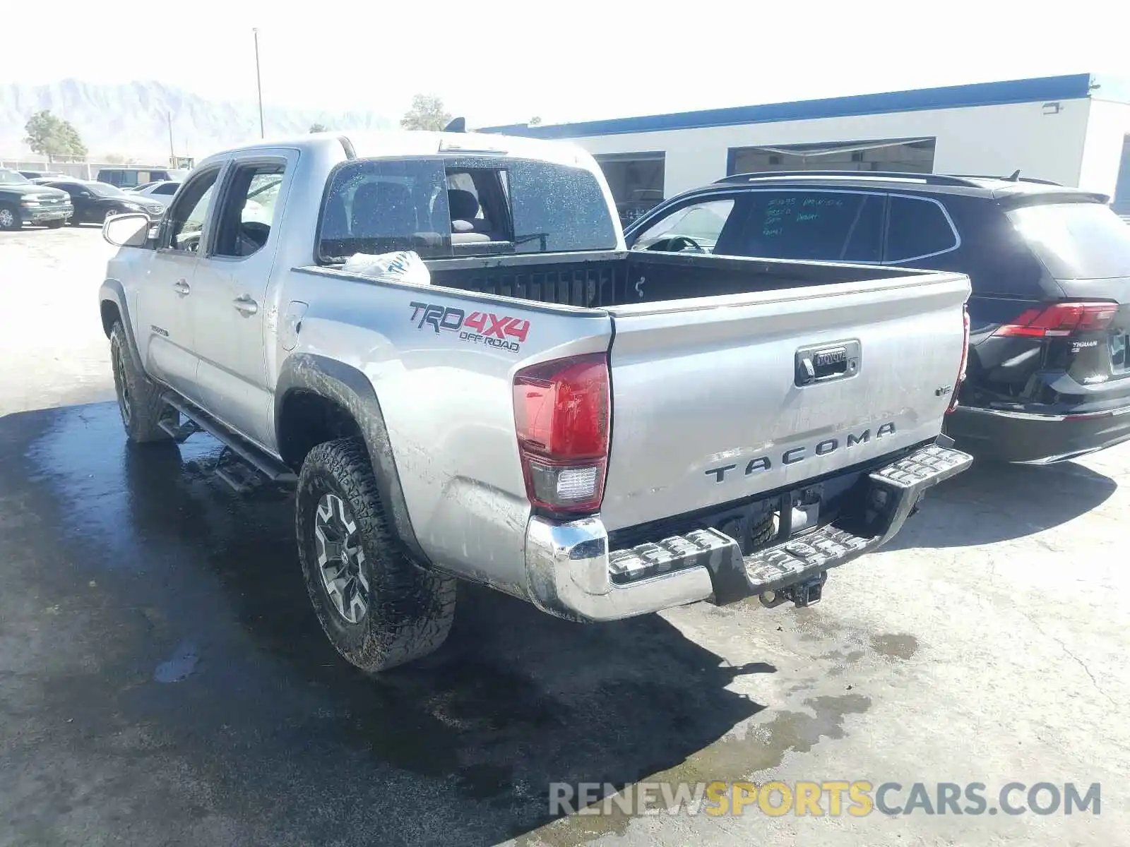
[[[851,191],[759,191],[740,248],[765,259],[878,262],[883,197]]]

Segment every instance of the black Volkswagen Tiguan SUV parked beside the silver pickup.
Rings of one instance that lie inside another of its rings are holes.
[[[981,459],[1046,464],[1130,438],[1130,226],[1107,201],[1019,174],[738,174],[625,238],[967,273],[968,370],[947,431]]]

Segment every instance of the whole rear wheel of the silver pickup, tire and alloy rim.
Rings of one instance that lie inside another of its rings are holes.
[[[455,580],[417,567],[393,538],[364,443],[314,447],[295,497],[298,558],[318,620],[364,671],[426,656],[447,637]]]

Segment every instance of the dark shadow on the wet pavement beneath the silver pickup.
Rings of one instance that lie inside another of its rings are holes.
[[[191,811],[238,821],[241,842],[496,844],[553,820],[551,783],[624,786],[764,708],[728,687],[772,665],[729,666],[658,615],[581,626],[472,585],[440,652],[359,673],[310,608],[289,498],[227,492],[217,452],[127,447],[113,404],[0,420],[0,464],[60,519],[35,556],[112,595],[99,672],[45,680],[43,719],[159,736],[159,756],[127,751],[153,762],[136,792],[163,797],[171,757],[201,783],[145,812],[174,839]]]

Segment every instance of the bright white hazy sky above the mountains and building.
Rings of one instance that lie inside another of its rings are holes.
[[[21,34],[3,38],[0,82],[157,79],[254,101],[259,27],[266,103],[398,117],[427,93],[471,125],[1053,73],[1130,79],[1127,0],[55,2],[42,26],[23,8],[2,16]],[[165,9],[184,20],[166,23]]]

